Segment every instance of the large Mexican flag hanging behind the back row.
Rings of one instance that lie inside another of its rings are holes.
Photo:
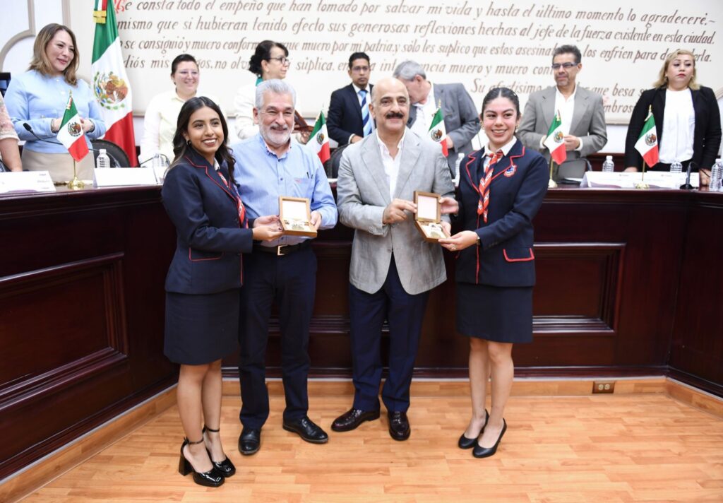
[[[103,138],[120,145],[130,165],[137,166],[131,86],[123,63],[113,1],[95,0],[93,18],[93,92],[108,127]]]

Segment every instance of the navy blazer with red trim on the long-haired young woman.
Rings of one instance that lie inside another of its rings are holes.
[[[228,180],[225,163],[221,171]],[[251,251],[253,237],[252,229],[240,227],[235,187],[227,187],[213,166],[189,148],[168,170],[161,197],[178,235],[166,291],[208,294],[240,288],[241,254]]]

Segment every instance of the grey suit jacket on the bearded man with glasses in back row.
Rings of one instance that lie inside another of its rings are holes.
[[[549,124],[555,117],[554,85],[532,93],[522,114],[522,122],[518,129],[518,138],[527,148],[542,153],[549,161],[547,148],[540,148],[540,140],[549,131]],[[575,110],[570,124],[570,135],[583,141],[581,151],[568,151],[568,159],[589,156],[604,147],[607,143],[607,127],[605,127],[605,111],[602,108],[602,96],[585,88],[575,92]]]

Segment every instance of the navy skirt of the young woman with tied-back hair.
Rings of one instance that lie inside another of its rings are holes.
[[[457,331],[493,342],[532,342],[532,287],[457,283]]]

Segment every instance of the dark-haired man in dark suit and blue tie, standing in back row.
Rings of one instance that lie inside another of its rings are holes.
[[[326,127],[330,138],[340,147],[356,143],[374,130],[374,121],[369,115],[374,87],[369,84],[371,71],[369,56],[355,52],[349,56],[351,84],[331,93]]]

